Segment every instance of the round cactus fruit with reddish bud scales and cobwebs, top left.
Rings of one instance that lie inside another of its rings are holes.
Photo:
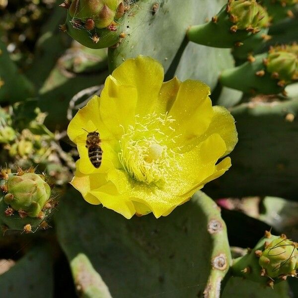
[[[123,0],[65,0],[68,8],[62,31],[82,45],[101,49],[115,45],[121,39],[121,17],[126,10]]]

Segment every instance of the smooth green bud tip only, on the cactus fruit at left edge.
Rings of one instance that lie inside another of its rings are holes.
[[[10,174],[5,186],[4,202],[29,217],[37,217],[51,195],[50,186],[35,173]]]

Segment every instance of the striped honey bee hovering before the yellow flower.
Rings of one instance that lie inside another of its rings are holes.
[[[83,130],[86,131],[85,129]],[[101,139],[99,138],[99,133],[96,131],[87,133],[86,148],[88,149],[89,160],[94,167],[99,168],[103,153],[100,147]]]

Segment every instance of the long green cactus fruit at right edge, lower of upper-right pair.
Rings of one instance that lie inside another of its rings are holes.
[[[220,80],[224,86],[246,93],[283,92],[286,85],[298,80],[298,46],[271,48],[234,69],[224,70]]]

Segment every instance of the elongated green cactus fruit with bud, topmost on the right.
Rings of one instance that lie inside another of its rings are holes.
[[[269,16],[256,0],[228,0],[212,21],[191,26],[187,35],[198,44],[232,48],[268,26]]]

